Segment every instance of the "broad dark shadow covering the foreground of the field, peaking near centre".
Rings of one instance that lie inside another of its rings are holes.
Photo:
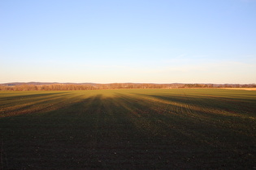
[[[255,136],[246,128],[254,121],[229,127],[232,121],[217,113],[214,122],[202,117],[208,106],[192,99],[147,97],[96,95],[45,113],[3,117],[2,167],[253,168]]]

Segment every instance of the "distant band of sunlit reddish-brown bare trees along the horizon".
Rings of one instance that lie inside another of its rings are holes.
[[[103,89],[146,89],[146,88],[216,88],[216,87],[256,87],[256,84],[210,84],[210,83],[5,83],[0,91],[80,91]]]

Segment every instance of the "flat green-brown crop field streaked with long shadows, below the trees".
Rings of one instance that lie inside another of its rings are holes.
[[[0,169],[256,168],[256,91],[1,91]]]

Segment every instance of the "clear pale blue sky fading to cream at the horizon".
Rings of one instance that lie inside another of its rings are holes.
[[[256,0],[0,0],[0,83],[256,83]]]

